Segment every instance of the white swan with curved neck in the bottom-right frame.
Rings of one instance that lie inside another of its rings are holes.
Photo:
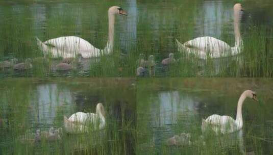
[[[242,105],[246,97],[258,101],[257,95],[254,91],[245,90],[238,100],[236,120],[230,116],[220,116],[214,114],[209,116],[206,120],[203,119],[202,131],[205,132],[207,130],[212,130],[216,134],[228,134],[240,130],[243,127]]]

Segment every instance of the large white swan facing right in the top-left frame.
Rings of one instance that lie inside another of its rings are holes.
[[[45,42],[37,39],[38,47],[44,54],[51,54],[53,58],[74,58],[77,54],[81,54],[83,58],[100,57],[101,55],[110,54],[114,46],[114,31],[115,31],[115,15],[127,15],[122,8],[113,6],[108,10],[108,41],[104,49],[98,49],[91,45],[88,41],[76,37],[65,36],[54,39],[49,39]]]

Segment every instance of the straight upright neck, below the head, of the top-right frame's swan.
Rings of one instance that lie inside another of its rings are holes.
[[[240,49],[242,46],[242,39],[240,34],[240,19],[241,15],[240,12],[234,11],[234,36],[235,36],[235,44],[234,47],[237,48],[237,50]],[[238,51],[239,53],[240,51]]]

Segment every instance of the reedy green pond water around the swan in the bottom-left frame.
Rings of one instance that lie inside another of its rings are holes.
[[[133,79],[6,79],[1,81],[1,154],[132,154],[136,99]],[[65,134],[63,116],[95,113],[101,102],[106,127]],[[22,135],[62,127],[56,141],[33,142]]]

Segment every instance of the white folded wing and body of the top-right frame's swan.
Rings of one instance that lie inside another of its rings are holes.
[[[219,58],[232,54],[232,47],[226,42],[213,37],[198,37],[183,44],[187,50],[198,53],[202,59]],[[188,51],[189,52],[189,51]]]

